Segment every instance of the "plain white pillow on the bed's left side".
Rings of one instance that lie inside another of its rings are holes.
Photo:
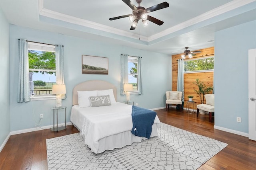
[[[90,96],[97,96],[97,91],[77,91],[79,107],[90,107]]]

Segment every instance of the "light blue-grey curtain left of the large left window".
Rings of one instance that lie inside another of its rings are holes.
[[[30,101],[29,66],[28,66],[28,42],[26,39],[18,39],[19,50],[19,82],[17,102]]]

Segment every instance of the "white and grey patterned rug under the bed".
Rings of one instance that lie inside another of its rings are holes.
[[[80,133],[46,139],[49,170],[196,170],[228,144],[161,123],[159,137],[94,154]]]

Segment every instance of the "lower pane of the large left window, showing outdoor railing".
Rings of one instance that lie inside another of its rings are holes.
[[[51,95],[52,85],[56,84],[55,74],[29,72],[30,92],[38,95]]]

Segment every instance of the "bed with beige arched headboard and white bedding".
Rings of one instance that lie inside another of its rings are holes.
[[[97,96],[107,94],[111,105],[82,106],[81,94],[87,93],[87,96],[95,96],[95,92]],[[80,135],[84,138],[84,143],[95,154],[147,139],[131,133],[133,128],[132,106],[116,102],[116,87],[102,80],[89,80],[74,87],[70,121],[78,128]],[[156,115],[150,137],[158,136],[158,128],[160,128],[160,120]]]

